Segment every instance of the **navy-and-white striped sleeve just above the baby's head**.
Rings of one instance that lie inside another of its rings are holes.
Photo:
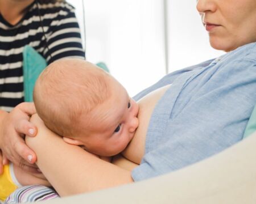
[[[75,8],[64,4],[50,24],[47,32],[48,48],[44,49],[44,58],[48,63],[64,57],[85,58],[79,24]]]

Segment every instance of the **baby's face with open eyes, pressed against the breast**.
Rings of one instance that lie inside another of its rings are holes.
[[[100,156],[123,151],[139,125],[139,105],[121,85],[115,89],[113,96],[93,111],[89,135],[79,138],[85,150]]]

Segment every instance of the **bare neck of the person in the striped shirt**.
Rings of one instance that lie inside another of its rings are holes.
[[[15,25],[26,14],[25,8],[35,0],[0,0],[0,14],[3,18]]]

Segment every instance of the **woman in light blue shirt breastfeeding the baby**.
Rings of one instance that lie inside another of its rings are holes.
[[[171,172],[241,140],[256,103],[256,2],[199,0],[197,10],[210,44],[228,53],[169,74],[136,96],[139,129],[115,165],[65,144],[32,118],[39,133],[27,143],[60,196]]]

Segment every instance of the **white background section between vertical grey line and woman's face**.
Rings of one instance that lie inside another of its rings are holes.
[[[224,54],[210,47],[196,1],[168,1],[169,72]]]

